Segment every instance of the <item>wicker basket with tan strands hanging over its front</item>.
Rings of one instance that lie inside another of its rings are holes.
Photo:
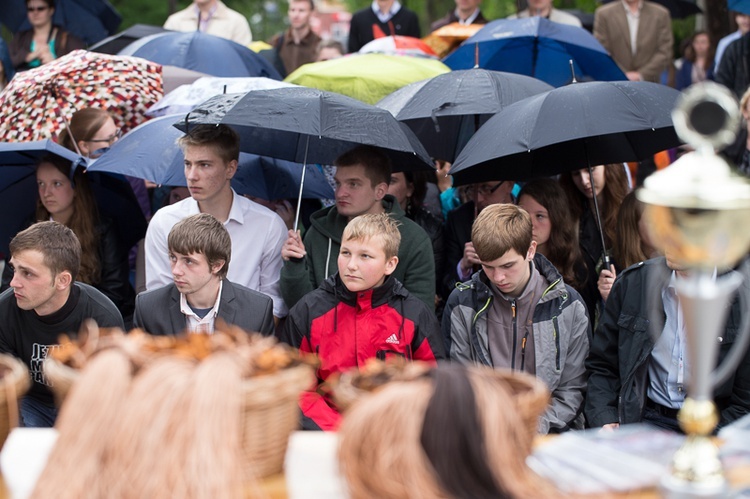
[[[78,371],[48,358],[46,376],[62,403],[79,376]],[[281,473],[289,435],[299,427],[299,394],[311,386],[312,367],[300,364],[244,382],[242,441],[248,476],[263,478]]]

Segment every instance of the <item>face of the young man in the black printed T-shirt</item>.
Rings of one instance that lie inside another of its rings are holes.
[[[25,250],[14,254],[10,264],[15,270],[10,286],[21,310],[34,310],[45,316],[57,312],[67,300],[67,284],[70,273],[52,275],[52,270],[44,263],[41,251]]]

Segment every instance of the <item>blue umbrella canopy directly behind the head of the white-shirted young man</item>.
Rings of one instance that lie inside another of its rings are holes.
[[[162,116],[143,123],[112,144],[88,171],[122,173],[160,185],[187,185],[185,158],[177,145],[183,133],[172,126],[182,117]],[[333,197],[333,189],[317,167],[308,165],[305,173],[302,197]],[[301,164],[241,153],[232,187],[240,194],[268,200],[296,198],[301,175]]]

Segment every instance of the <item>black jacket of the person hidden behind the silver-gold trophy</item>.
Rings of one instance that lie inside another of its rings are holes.
[[[648,387],[648,364],[655,338],[664,324],[661,290],[671,271],[664,258],[641,262],[622,272],[607,299],[594,333],[586,369],[589,371],[584,414],[591,427],[641,420]],[[750,292],[747,276],[742,292]],[[719,313],[717,313],[717,316]],[[740,304],[732,304],[719,347],[726,357],[740,328]],[[750,412],[750,355],[733,376],[714,391],[720,425]]]

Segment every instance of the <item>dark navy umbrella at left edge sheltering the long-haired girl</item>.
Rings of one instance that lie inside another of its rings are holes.
[[[0,217],[0,252],[8,254],[8,244],[33,216],[38,197],[36,164],[43,156],[56,155],[71,162],[72,168],[85,166],[85,159],[51,140],[0,142],[0,197],[6,207]],[[120,240],[131,247],[146,235],[146,219],[121,175],[86,173],[99,211],[115,223]]]

